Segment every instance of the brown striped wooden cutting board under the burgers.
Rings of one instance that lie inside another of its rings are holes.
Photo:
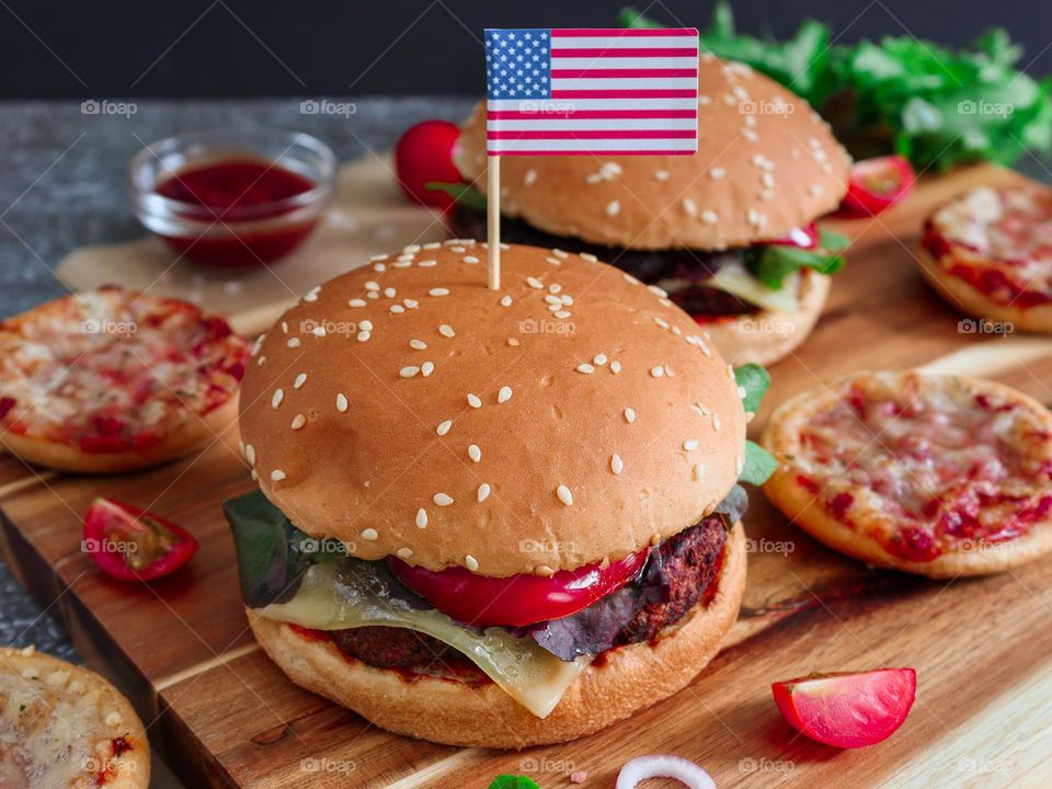
[[[986,374],[1052,403],[1052,340],[960,331],[961,317],[924,286],[911,259],[937,203],[972,184],[1020,180],[993,168],[959,171],[925,180],[878,220],[831,222],[856,238],[848,267],[811,340],[771,368],[775,386],[754,431],[793,392],[867,367]],[[264,658],[247,627],[219,510],[251,487],[233,434],[198,458],[116,478],[35,473],[0,458],[3,559],[87,663],[129,694],[191,787],[473,789],[517,773],[553,789],[586,770],[583,786],[598,788],[652,752],[696,761],[721,789],[1052,780],[1052,561],[948,583],[870,570],[823,548],[753,492],[745,603],[709,668],[593,736],[487,752],[388,734],[298,689]],[[197,536],[201,552],[150,587],[106,579],[79,549],[80,518],[98,495],[170,516]],[[879,747],[839,752],[797,736],[770,699],[775,679],[884,665],[914,666],[919,691],[906,724]]]

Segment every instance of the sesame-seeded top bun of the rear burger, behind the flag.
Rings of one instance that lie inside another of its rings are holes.
[[[591,243],[719,250],[784,237],[841,204],[850,159],[805,101],[711,55],[698,89],[697,153],[504,157],[502,213]],[[484,102],[455,161],[484,191]]]

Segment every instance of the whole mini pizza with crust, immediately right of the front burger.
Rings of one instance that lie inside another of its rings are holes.
[[[768,498],[816,539],[930,578],[1052,551],[1052,414],[994,381],[858,373],[770,418]]]

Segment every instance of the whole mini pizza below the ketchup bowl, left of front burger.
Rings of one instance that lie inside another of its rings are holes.
[[[245,341],[192,304],[118,287],[0,321],[0,443],[83,472],[146,468],[237,418]]]

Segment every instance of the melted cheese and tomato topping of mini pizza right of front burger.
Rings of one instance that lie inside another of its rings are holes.
[[[1005,392],[912,373],[856,377],[800,425],[796,481],[910,561],[1018,537],[1052,513],[1052,435]]]

